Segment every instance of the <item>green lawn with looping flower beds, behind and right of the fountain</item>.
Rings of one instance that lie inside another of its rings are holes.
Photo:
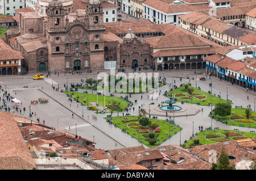
[[[184,101],[185,103],[186,102],[193,103],[193,104],[200,103],[201,106],[208,106],[208,104],[211,104],[211,103],[214,106],[216,103],[226,102],[226,100],[220,99],[220,97],[218,95],[214,96],[212,94],[208,94],[207,92],[196,89],[195,87],[193,87],[193,94],[197,94],[197,95],[193,95],[192,100],[187,99],[187,98],[191,98],[191,97],[189,97],[189,94],[188,94],[187,90],[184,89],[184,86],[174,89],[171,92],[172,92],[172,96],[174,96],[174,98],[177,99],[177,102]],[[181,94],[183,94],[183,96],[179,96]],[[199,96],[199,97],[196,97],[196,96]],[[226,98],[226,96],[224,96],[223,94],[221,95],[221,97]]]

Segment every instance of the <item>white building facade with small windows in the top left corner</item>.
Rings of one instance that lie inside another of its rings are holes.
[[[25,7],[25,0],[0,0],[0,14],[15,16],[14,10]]]

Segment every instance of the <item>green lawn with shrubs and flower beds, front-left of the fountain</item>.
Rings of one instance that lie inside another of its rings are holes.
[[[137,131],[137,128],[131,128],[129,125],[132,124],[138,124],[138,120],[135,121],[128,121],[127,123],[123,123],[122,120],[125,119],[125,117],[129,119],[138,119],[138,116],[119,116],[119,117],[112,117],[113,118],[113,125],[117,124],[117,127],[120,129],[120,132],[122,130],[126,130],[126,133],[129,134],[131,137],[135,138],[136,140],[139,140],[144,145],[148,147],[154,147],[155,145],[150,145],[147,140],[148,133],[139,133]],[[109,117],[105,117],[105,119],[110,119]],[[165,120],[159,120],[159,119],[150,119],[152,123],[156,123],[160,126],[160,132],[156,132],[158,134],[157,137],[157,144],[162,144],[164,141],[166,141],[169,138],[169,131],[170,131],[170,137],[174,136],[177,132],[179,132],[182,128],[175,124],[171,124]],[[106,123],[109,124],[109,123]],[[169,127],[170,126],[170,127]],[[136,126],[135,126],[136,127]],[[125,134],[124,132],[122,132]]]

